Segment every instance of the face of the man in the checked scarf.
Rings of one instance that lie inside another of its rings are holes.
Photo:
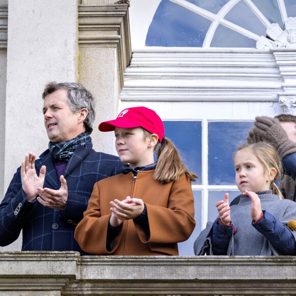
[[[43,114],[47,136],[52,142],[64,142],[85,131],[81,112],[71,111],[65,89],[56,90],[45,96]]]

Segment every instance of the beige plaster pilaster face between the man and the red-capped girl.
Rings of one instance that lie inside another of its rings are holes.
[[[79,81],[96,100],[96,115],[91,134],[94,150],[116,155],[114,134],[98,131],[100,122],[114,119],[118,112],[116,48],[81,46],[79,56]]]

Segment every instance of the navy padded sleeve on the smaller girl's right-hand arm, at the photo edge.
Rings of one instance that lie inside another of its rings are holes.
[[[263,211],[263,218],[252,223],[264,237],[283,255],[296,254],[296,242],[290,229],[283,225],[274,215],[267,211]]]

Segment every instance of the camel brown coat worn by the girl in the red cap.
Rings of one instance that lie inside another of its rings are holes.
[[[84,218],[75,231],[82,250],[96,255],[178,255],[177,242],[189,238],[194,227],[194,199],[191,182],[185,174],[162,185],[153,179],[154,170],[120,174],[94,184]],[[111,252],[106,249],[110,202],[131,198],[146,205],[150,238],[140,225],[125,220]]]

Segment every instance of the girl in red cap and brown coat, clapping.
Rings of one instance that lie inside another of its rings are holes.
[[[188,239],[195,226],[191,181],[197,176],[164,136],[162,120],[151,109],[134,107],[98,129],[114,131],[125,165],[122,174],[94,185],[75,231],[82,250],[96,255],[178,255],[177,243]]]

